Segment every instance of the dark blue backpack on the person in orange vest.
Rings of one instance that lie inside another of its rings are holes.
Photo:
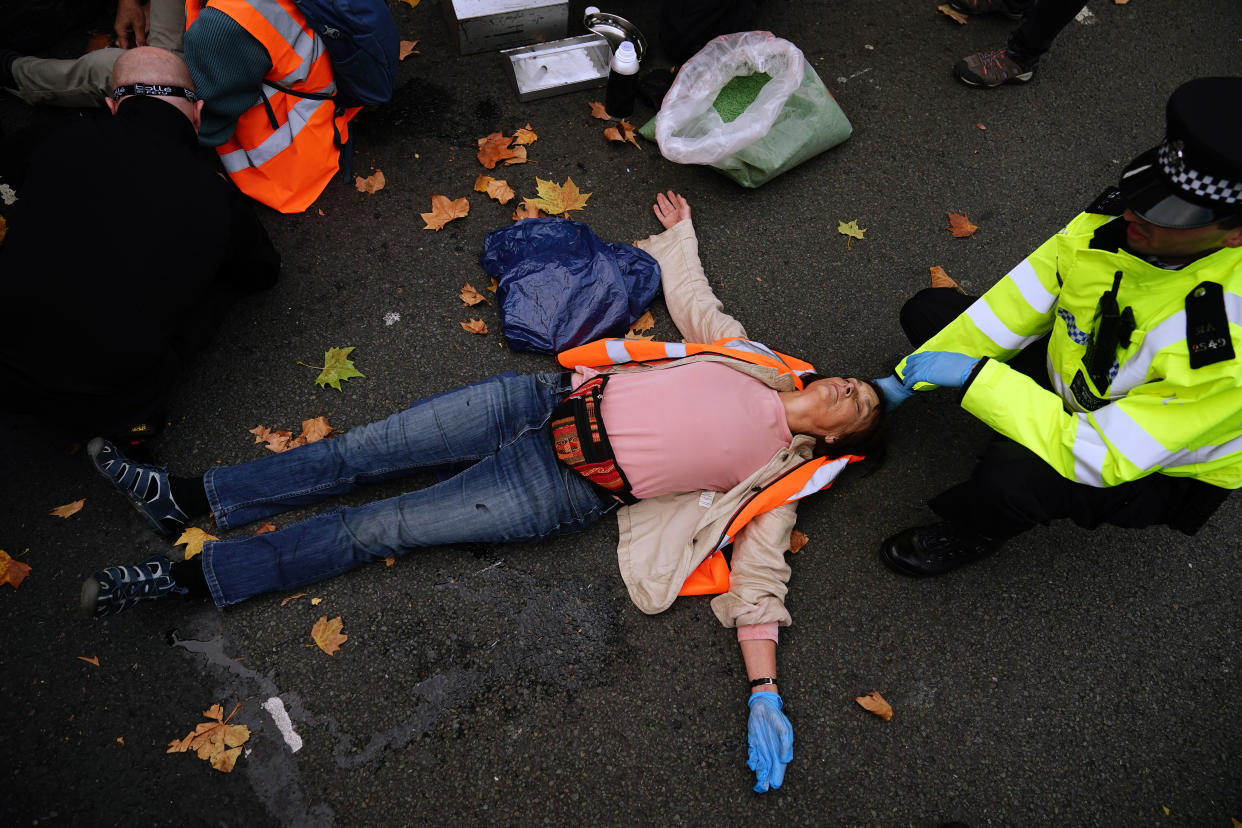
[[[338,108],[388,103],[401,38],[385,0],[293,1],[328,48]]]

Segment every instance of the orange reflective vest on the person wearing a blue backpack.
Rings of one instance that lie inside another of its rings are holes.
[[[272,61],[265,81],[313,94],[337,91],[328,51],[293,0],[209,0],[206,5],[232,17],[263,45]],[[201,9],[201,0],[186,0],[186,29]],[[349,140],[349,119],[358,109],[344,109],[338,117],[333,101],[301,98],[265,83],[255,106],[241,114],[232,137],[216,151],[251,199],[281,212],[302,212],[335,175],[340,146]]]

